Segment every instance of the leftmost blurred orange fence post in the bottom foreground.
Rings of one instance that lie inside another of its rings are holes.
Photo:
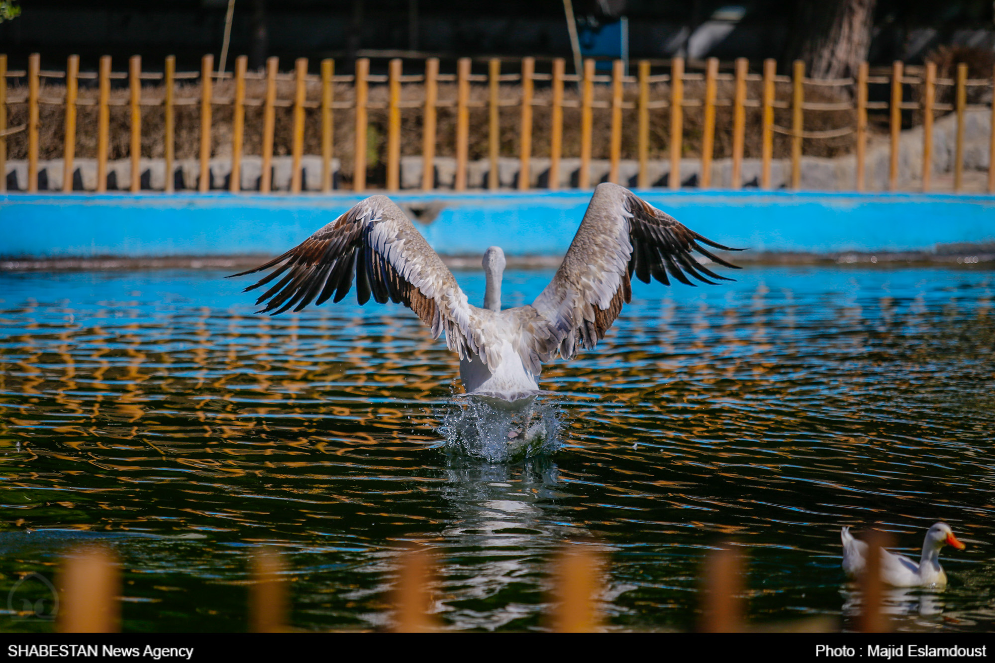
[[[81,547],[67,555],[59,581],[61,633],[120,630],[120,572],[112,552]]]

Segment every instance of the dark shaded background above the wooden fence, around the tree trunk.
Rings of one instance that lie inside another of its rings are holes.
[[[992,3],[984,0],[931,2],[856,0],[874,13],[872,64],[895,59],[915,64],[938,45],[956,43],[995,47]],[[597,25],[626,16],[632,58],[747,57],[790,59],[789,38],[810,26],[803,2],[748,0],[730,3],[697,0],[574,0],[582,23]],[[814,3],[811,3],[814,4]],[[833,5],[835,3],[821,3]],[[101,55],[116,58],[140,53],[161,67],[175,55],[180,68],[196,69],[205,53],[221,51],[227,0],[175,0],[137,3],[125,0],[32,0],[22,14],[0,23],[0,50],[11,65],[23,67],[39,52],[43,67],[61,67],[79,54],[84,70],[95,69]],[[560,2],[507,0],[500,3],[456,0],[238,0],[231,36],[232,54],[250,56],[260,67],[267,56],[288,61],[308,57],[352,58],[358,52],[385,57],[408,52],[445,58],[462,56],[550,56],[570,54]],[[384,53],[392,52],[392,53]],[[444,63],[445,65],[445,63]]]

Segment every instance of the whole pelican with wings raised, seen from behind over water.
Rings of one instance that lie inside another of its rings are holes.
[[[487,278],[484,307],[471,305],[456,279],[401,209],[382,195],[370,196],[305,239],[256,269],[273,272],[243,292],[265,286],[258,313],[300,311],[311,302],[339,302],[356,283],[356,299],[390,300],[415,312],[460,356],[460,378],[470,395],[516,403],[542,393],[542,364],[556,354],[573,358],[593,349],[632,299],[630,279],[668,275],[689,286],[688,278],[716,285],[708,277],[732,281],[699,264],[692,250],[713,263],[739,269],[701,244],[738,251],[698,235],[672,216],[617,184],[599,184],[573,242],[552,281],[532,304],[501,310],[504,253],[484,254]],[[286,274],[285,274],[286,273]]]

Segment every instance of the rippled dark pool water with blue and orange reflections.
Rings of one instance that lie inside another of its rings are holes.
[[[751,620],[846,625],[840,527],[917,556],[937,520],[967,550],[944,549],[946,591],[892,597],[900,627],[992,628],[990,271],[634,284],[595,351],[543,373],[554,443],[497,462],[445,442],[458,360],[410,312],[259,317],[222,276],[0,275],[0,628],[51,628],[4,597],[91,539],[121,558],[128,630],[245,629],[261,546],[287,555],[295,627],[379,628],[412,542],[453,629],[542,628],[564,542],[605,551],[610,627],[689,628],[724,540]],[[504,305],[550,276],[505,273]]]

